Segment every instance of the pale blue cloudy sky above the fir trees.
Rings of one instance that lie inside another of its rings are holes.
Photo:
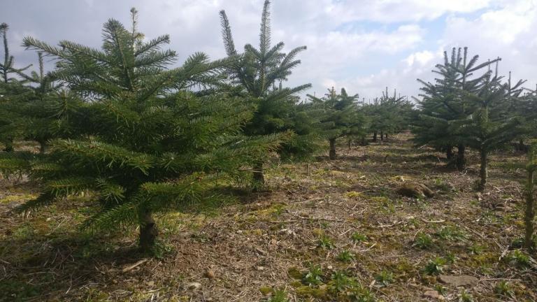
[[[225,56],[222,9],[238,49],[259,44],[263,0],[1,0],[0,22],[10,25],[10,51],[23,66],[36,62],[20,46],[24,36],[98,48],[102,24],[129,24],[133,6],[147,38],[170,34],[178,64],[194,52]],[[285,85],[309,82],[317,96],[330,87],[366,101],[385,87],[417,96],[417,78],[433,80],[443,51],[464,46],[480,61],[501,57],[500,73],[537,84],[537,0],[272,0],[271,24],[273,44],[308,47]]]

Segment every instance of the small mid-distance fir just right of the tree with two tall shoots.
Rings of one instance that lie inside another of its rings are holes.
[[[349,95],[344,88],[341,89],[341,94],[337,94],[332,87],[322,98],[310,94],[308,97],[313,106],[324,111],[322,122],[328,126],[329,159],[336,159],[336,140],[363,132],[365,122],[364,115],[358,110],[358,94]]]

